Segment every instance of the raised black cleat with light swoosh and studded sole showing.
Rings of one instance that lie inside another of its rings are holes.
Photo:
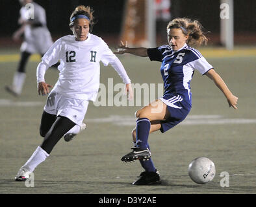
[[[123,162],[132,162],[138,159],[149,160],[149,158],[151,157],[149,149],[141,149],[140,147],[134,147],[131,149],[133,149],[131,153],[128,153],[121,158]]]

